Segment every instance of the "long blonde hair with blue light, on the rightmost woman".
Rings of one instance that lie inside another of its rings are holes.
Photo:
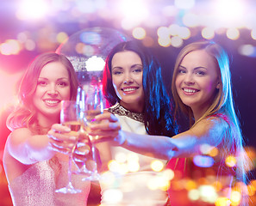
[[[198,50],[207,51],[207,53],[214,59],[215,68],[217,69],[217,76],[220,81],[220,88],[216,88],[215,97],[212,101],[212,104],[209,106],[207,111],[204,112],[203,116],[192,125],[192,127],[203,118],[208,118],[212,115],[223,114],[225,117],[227,117],[229,125],[228,130],[225,132],[226,135],[223,138],[224,153],[236,155],[236,176],[238,179],[240,179],[240,181],[247,182],[245,167],[247,166],[248,160],[243,148],[244,141],[240,130],[240,121],[234,110],[228,53],[222,48],[221,45],[218,45],[213,41],[197,41],[191,43],[190,45],[184,46],[184,48],[179,52],[172,76],[172,94],[176,104],[175,112],[178,111],[179,107],[182,112],[189,116],[190,123],[194,121],[190,107],[184,105],[178,96],[175,81],[178,75],[179,66],[184,57],[191,51]]]

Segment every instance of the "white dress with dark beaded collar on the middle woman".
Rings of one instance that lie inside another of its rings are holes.
[[[141,135],[147,134],[141,113],[130,112],[120,104],[116,104],[108,110],[119,119],[122,130]],[[157,159],[134,153],[122,147],[111,147],[111,154],[115,162],[120,161],[120,157],[122,157],[122,163],[119,165],[125,169],[112,171],[105,181],[100,182],[104,206],[160,206],[165,204],[166,192],[160,190],[159,185],[152,185],[155,186],[153,189],[149,188],[150,184],[157,182],[162,175],[162,173],[154,172],[151,168],[152,161]],[[165,165],[165,161],[160,162]]]

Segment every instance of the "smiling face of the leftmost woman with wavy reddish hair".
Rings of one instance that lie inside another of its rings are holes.
[[[60,101],[70,100],[70,77],[66,67],[59,62],[46,64],[40,73],[33,96],[39,119],[58,119]]]

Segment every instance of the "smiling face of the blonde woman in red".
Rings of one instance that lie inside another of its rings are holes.
[[[214,58],[204,50],[188,53],[179,65],[175,86],[184,105],[205,112],[220,87]]]

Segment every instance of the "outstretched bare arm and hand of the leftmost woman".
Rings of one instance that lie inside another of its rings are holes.
[[[61,124],[53,124],[47,135],[34,135],[28,128],[20,128],[10,133],[6,149],[24,165],[47,161],[56,152],[67,154],[71,150],[76,137],[68,136],[70,131]]]

